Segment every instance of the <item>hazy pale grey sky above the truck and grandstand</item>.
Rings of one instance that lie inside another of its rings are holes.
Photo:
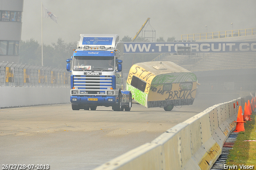
[[[256,0],[24,0],[22,40],[41,42],[41,2],[58,24],[43,18],[44,44],[77,42],[80,34],[133,38],[147,18],[156,38],[256,28]],[[150,30],[149,28],[147,30]]]

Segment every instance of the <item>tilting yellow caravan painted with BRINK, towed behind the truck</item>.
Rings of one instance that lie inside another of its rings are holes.
[[[134,100],[147,108],[193,104],[196,75],[173,62],[143,62],[130,68],[126,90]]]

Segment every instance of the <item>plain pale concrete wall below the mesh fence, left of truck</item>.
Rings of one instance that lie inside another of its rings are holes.
[[[0,87],[0,108],[70,102],[67,87]]]

